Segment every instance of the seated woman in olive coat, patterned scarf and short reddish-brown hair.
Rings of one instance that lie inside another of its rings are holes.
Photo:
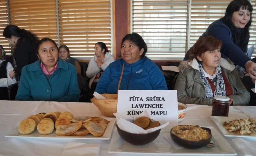
[[[250,94],[231,61],[221,58],[222,41],[207,36],[198,39],[190,60],[180,63],[175,83],[178,101],[185,104],[212,105],[215,95],[230,97],[233,105],[248,105]]]

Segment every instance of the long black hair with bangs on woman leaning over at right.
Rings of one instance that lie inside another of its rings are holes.
[[[246,26],[243,29],[241,29],[241,34],[238,34],[235,31],[236,27],[234,26],[231,19],[232,19],[233,13],[239,11],[241,7],[242,9],[246,9],[251,13],[250,13],[249,22],[246,24]],[[252,4],[250,4],[248,0],[233,0],[230,2],[230,4],[228,4],[228,7],[226,8],[225,16],[221,18],[224,24],[226,24],[230,28],[232,32],[233,42],[238,47],[240,47],[240,49],[244,51],[244,53],[247,52],[248,42],[250,38],[249,28],[252,24],[252,10],[253,10]]]

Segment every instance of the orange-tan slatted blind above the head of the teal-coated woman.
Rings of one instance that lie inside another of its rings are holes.
[[[11,24],[58,42],[55,0],[9,0]]]

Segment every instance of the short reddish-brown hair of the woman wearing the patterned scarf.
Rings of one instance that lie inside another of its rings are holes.
[[[221,46],[222,46],[222,41],[212,36],[206,36],[206,37],[200,38],[193,45],[192,50],[189,51],[189,58],[194,59],[196,58],[197,55],[201,56],[202,53],[206,51],[213,51],[215,49],[221,48]],[[197,59],[197,61],[199,60]]]

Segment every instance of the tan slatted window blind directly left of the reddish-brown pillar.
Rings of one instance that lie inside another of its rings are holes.
[[[60,44],[74,57],[94,55],[95,43],[111,52],[110,0],[58,0]]]

